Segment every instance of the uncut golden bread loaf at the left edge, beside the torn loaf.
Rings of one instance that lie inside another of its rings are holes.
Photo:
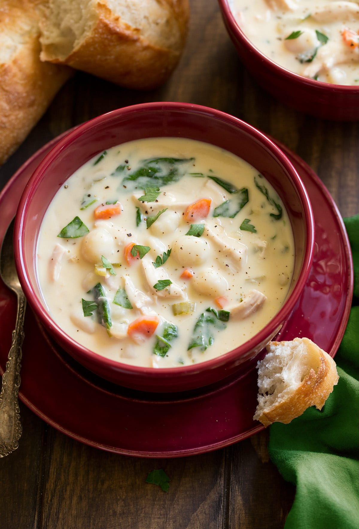
[[[40,0],[0,3],[0,164],[25,139],[71,69],[40,61]]]

